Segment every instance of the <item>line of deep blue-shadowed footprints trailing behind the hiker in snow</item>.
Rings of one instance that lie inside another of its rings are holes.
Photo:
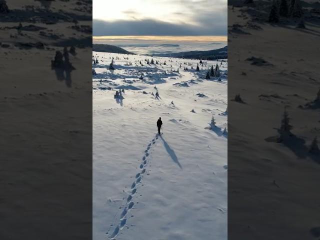
[[[132,209],[134,202],[132,201],[132,197],[136,192],[136,187],[137,185],[141,182],[142,176],[145,173],[145,166],[147,163],[146,157],[149,156],[149,149],[151,147],[151,144],[155,143],[155,140],[158,139],[158,136],[156,135],[155,138],[151,140],[151,142],[147,145],[146,149],[144,150],[144,155],[142,157],[142,162],[139,166],[139,172],[135,174],[135,179],[131,184],[131,190],[130,194],[126,198],[126,203],[125,206],[120,214],[120,222],[119,224],[115,227],[114,231],[112,234],[108,237],[108,239],[115,239],[115,237],[119,234],[119,231],[122,230],[125,226],[126,223],[126,216],[128,214],[128,211]]]

